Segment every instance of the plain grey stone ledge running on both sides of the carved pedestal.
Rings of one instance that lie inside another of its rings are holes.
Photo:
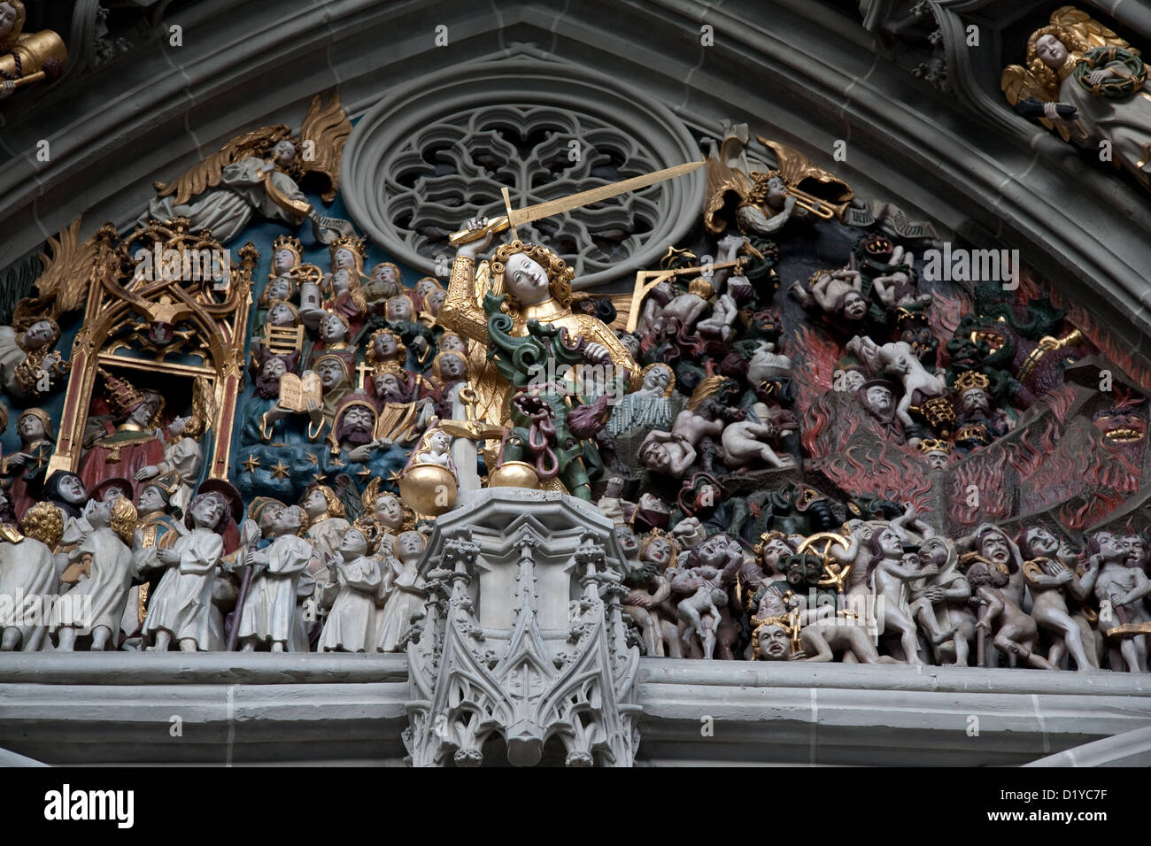
[[[406,676],[403,655],[0,655],[0,747],[53,764],[395,765]],[[643,658],[639,684],[639,765],[1083,765],[1138,755],[1122,737],[1151,731],[1151,678],[1127,673]]]

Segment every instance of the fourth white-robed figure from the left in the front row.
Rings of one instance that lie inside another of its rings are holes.
[[[298,505],[282,509],[272,524],[276,539],[237,562],[257,567],[239,613],[238,637],[244,651],[262,643],[270,645],[274,653],[299,646],[294,637],[299,616],[297,589],[304,571],[318,557],[312,544],[299,536],[304,523],[304,510]]]

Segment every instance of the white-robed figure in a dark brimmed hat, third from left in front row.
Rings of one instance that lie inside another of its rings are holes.
[[[228,523],[228,503],[216,491],[200,494],[184,516],[186,533],[169,549],[158,549],[155,559],[167,566],[148,603],[144,631],[148,647],[167,651],[173,641],[182,651],[207,651],[212,643],[212,585]],[[177,528],[177,531],[180,531]]]

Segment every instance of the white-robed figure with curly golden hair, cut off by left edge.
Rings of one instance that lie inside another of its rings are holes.
[[[52,550],[63,534],[60,509],[37,503],[23,519],[23,536],[0,527],[0,650],[35,653],[44,642],[45,596],[56,593],[60,573]],[[35,604],[32,604],[35,603]]]

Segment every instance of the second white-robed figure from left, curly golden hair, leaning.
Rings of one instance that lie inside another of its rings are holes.
[[[78,580],[52,608],[51,631],[62,651],[75,649],[77,637],[89,632],[92,651],[109,648],[112,633],[119,631],[124,617],[128,592],[136,576],[131,548],[136,506],[123,496],[115,502],[91,500],[84,508],[84,518],[91,531],[68,554]],[[67,571],[63,578],[68,578]],[[110,648],[115,647],[112,641]]]

